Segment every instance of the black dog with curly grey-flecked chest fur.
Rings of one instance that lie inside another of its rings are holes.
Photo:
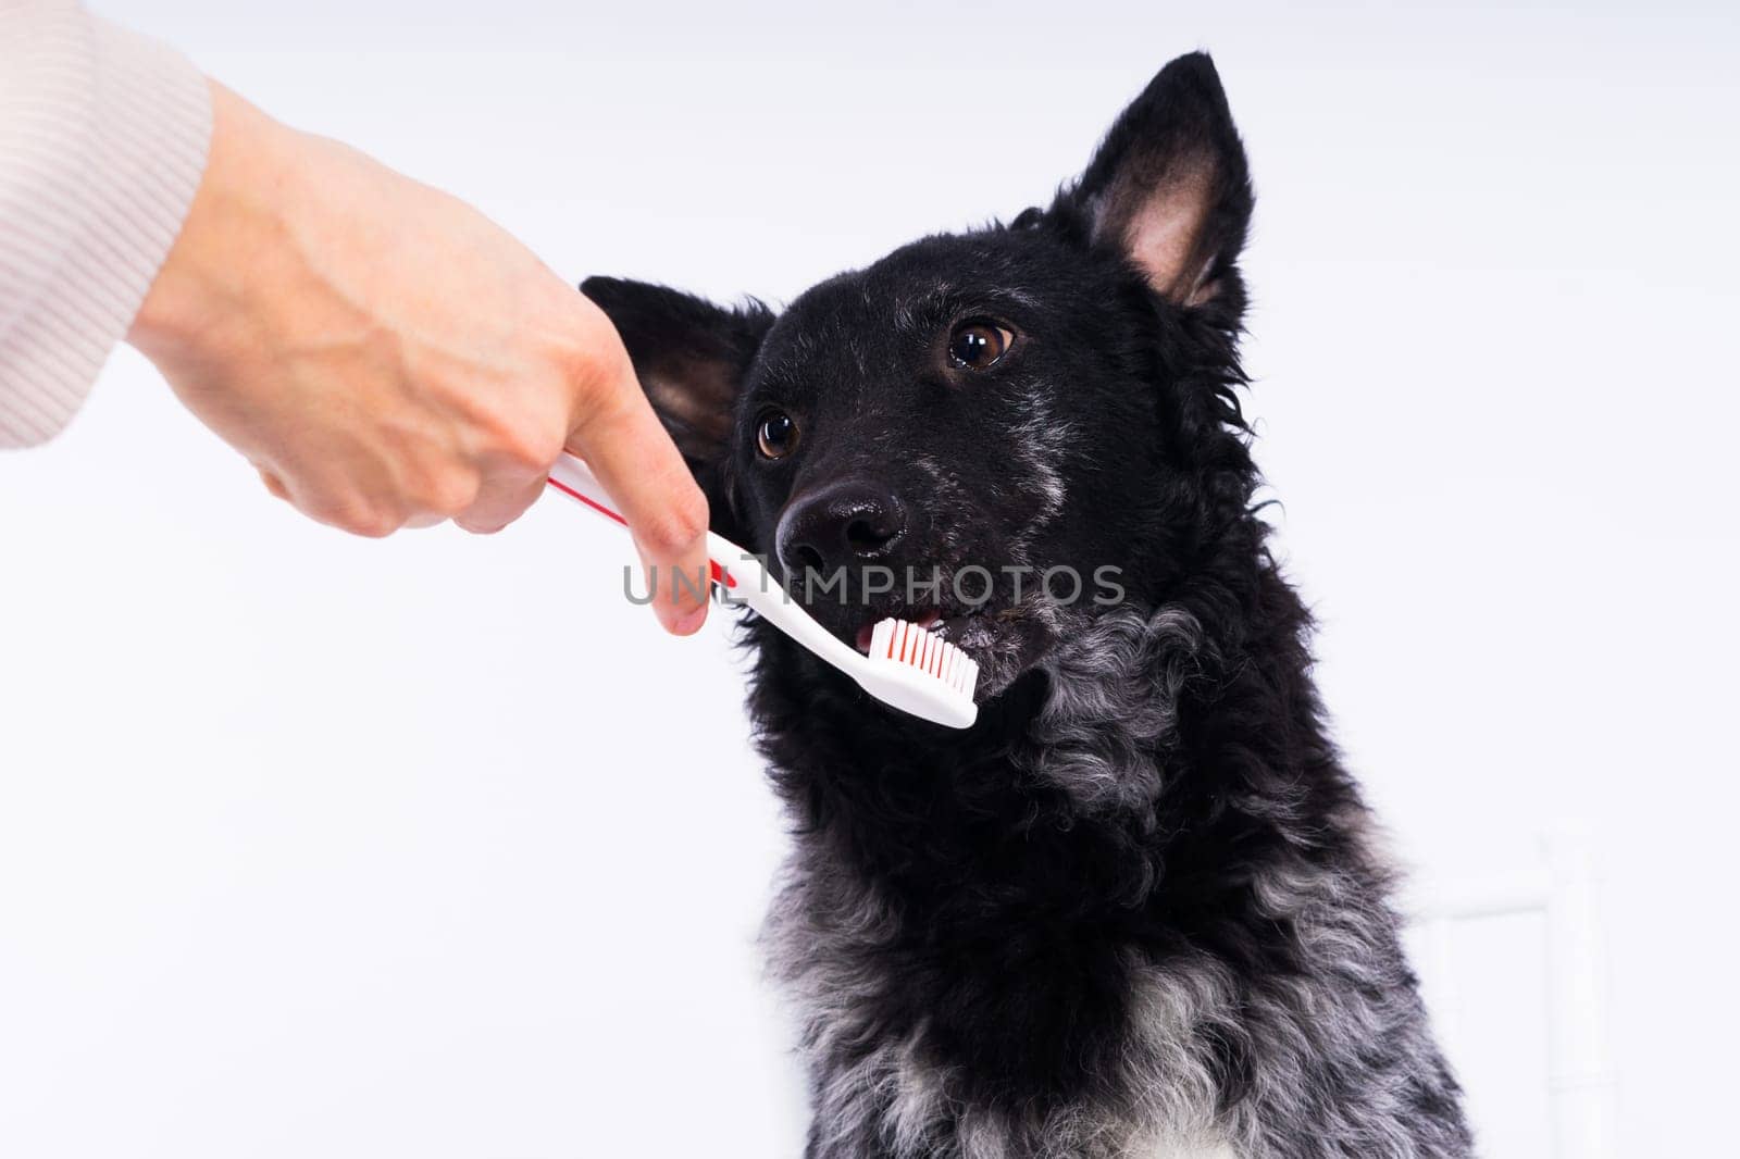
[[[1470,1154],[1253,499],[1251,205],[1194,54],[1049,205],[783,313],[581,285],[715,531],[980,665],[950,731],[743,625],[809,1159]]]

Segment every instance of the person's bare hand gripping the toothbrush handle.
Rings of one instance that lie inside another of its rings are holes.
[[[618,501],[677,633],[706,499],[604,313],[463,202],[212,84],[211,160],[129,332],[266,487],[365,536],[499,531],[564,447]],[[705,574],[705,573],[703,573]]]

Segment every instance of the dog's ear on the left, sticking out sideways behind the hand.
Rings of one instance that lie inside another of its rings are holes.
[[[726,310],[665,285],[586,278],[579,291],[623,336],[635,376],[726,531],[726,444],[736,428],[738,392],[773,312],[759,301]]]

